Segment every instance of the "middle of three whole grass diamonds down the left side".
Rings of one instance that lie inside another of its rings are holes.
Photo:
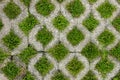
[[[2,41],[10,50],[18,47],[18,45],[21,43],[21,39],[14,33],[13,30],[11,30],[9,34],[2,39]]]

